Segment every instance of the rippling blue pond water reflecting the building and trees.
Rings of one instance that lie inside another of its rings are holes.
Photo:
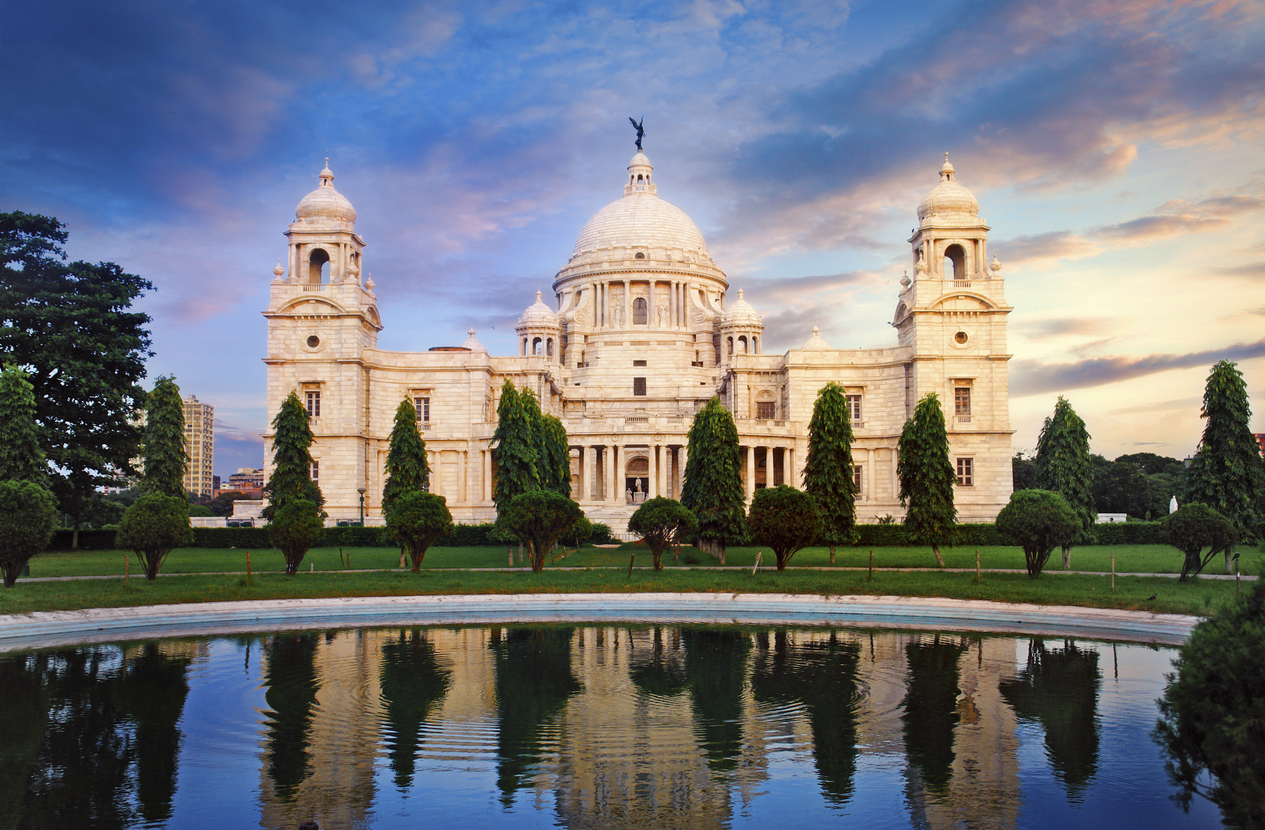
[[[0,825],[1219,826],[1149,736],[1174,654],[581,625],[10,655]]]

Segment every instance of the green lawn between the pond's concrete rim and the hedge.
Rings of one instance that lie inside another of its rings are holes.
[[[0,614],[293,597],[701,591],[925,596],[1202,615],[1235,595],[1232,581],[1197,579],[1190,585],[1179,585],[1169,577],[1117,577],[1116,590],[1112,592],[1111,577],[1106,573],[1060,574],[1058,571],[1047,571],[1035,581],[1022,573],[984,573],[982,581],[977,583],[974,573],[893,571],[878,571],[873,579],[868,579],[864,571],[807,567],[825,564],[829,558],[825,549],[801,552],[792,559],[786,572],[778,573],[765,563],[765,567],[753,576],[750,566],[755,550],[755,548],[730,550],[727,562],[745,566],[745,569],[674,567],[669,554],[665,557],[668,568],[654,573],[649,569],[650,555],[645,548],[632,545],[616,549],[586,548],[546,566],[543,573],[530,573],[493,571],[492,568],[507,566],[503,547],[436,548],[426,554],[423,573],[414,574],[395,569],[398,553],[382,548],[355,548],[350,549],[350,553],[353,568],[383,569],[369,573],[340,573],[344,568],[338,549],[320,548],[304,559],[302,572],[296,577],[277,573],[282,567],[280,553],[261,550],[252,552],[254,574],[249,582],[239,574],[199,574],[147,582],[137,574],[133,559],[133,572],[126,585],[118,578],[123,573],[120,552],[49,553],[32,561],[33,576],[91,573],[115,574],[115,578],[67,582],[19,581],[15,588],[0,591]],[[347,552],[348,549],[344,549],[344,554]],[[630,552],[636,553],[638,568],[631,577],[627,577]],[[1116,553],[1118,571],[1126,569],[1122,562],[1132,563],[1130,567],[1147,563],[1144,566],[1146,569],[1160,571],[1156,567],[1159,564],[1156,561],[1161,558],[1159,554],[1163,553],[1163,558],[1169,561],[1178,557],[1171,549],[1159,545],[1116,548]],[[703,566],[715,562],[689,548],[686,549],[686,554],[697,558]],[[861,567],[868,555],[868,549],[840,549],[837,563]],[[1254,555],[1259,567],[1259,554]],[[1077,549],[1073,552],[1073,564],[1078,568],[1089,568],[1101,557],[1106,557],[1109,567],[1109,549]],[[875,567],[925,567],[929,559],[934,562],[926,549],[875,548],[874,550]],[[946,559],[950,567],[974,567],[974,549],[949,550]],[[984,567],[1022,566],[1022,554],[1011,548],[980,548],[980,559]],[[310,566],[315,572],[309,571]],[[168,558],[163,573],[244,571],[244,550],[181,549]],[[564,567],[579,569],[563,569]],[[1151,593],[1157,595],[1157,598],[1146,601]]]

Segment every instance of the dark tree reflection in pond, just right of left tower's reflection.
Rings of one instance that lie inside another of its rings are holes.
[[[387,758],[401,791],[412,786],[421,724],[448,692],[452,672],[421,631],[400,631],[382,645],[382,697],[390,734]]]

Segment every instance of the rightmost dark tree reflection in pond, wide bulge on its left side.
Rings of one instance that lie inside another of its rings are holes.
[[[1027,666],[1016,679],[1001,682],[1002,698],[1020,720],[1040,724],[1054,777],[1079,801],[1098,772],[1098,690],[1102,673],[1098,652],[1077,648],[1046,649],[1028,641]]]

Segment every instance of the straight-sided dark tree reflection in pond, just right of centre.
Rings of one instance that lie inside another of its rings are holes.
[[[750,638],[735,630],[682,629],[681,643],[707,767],[713,773],[732,772],[743,752],[743,687]]]

